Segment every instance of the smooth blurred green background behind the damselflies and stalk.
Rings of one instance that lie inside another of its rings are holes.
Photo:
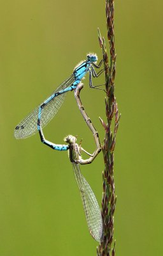
[[[66,152],[45,147],[36,134],[15,140],[13,129],[85,59],[101,56],[104,1],[1,1],[0,255],[96,255]],[[122,113],[115,150],[117,255],[162,255],[162,1],[115,1],[116,97]],[[94,84],[103,83],[101,76]],[[104,138],[104,93],[81,99]],[[67,134],[95,143],[73,93],[44,129],[63,143]],[[81,166],[101,204],[103,155]]]

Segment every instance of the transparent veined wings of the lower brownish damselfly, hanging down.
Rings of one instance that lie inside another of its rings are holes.
[[[80,190],[81,200],[89,227],[89,232],[96,241],[103,241],[103,219],[96,196],[89,183],[80,172],[79,164],[73,163],[74,177]]]

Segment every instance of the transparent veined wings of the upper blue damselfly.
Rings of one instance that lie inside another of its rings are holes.
[[[65,88],[71,86],[71,84],[73,83],[74,83],[74,76],[72,75],[71,77],[66,79],[66,81],[64,81],[62,84],[60,84],[60,86],[57,89],[55,89],[53,93],[59,92],[60,90],[64,90]],[[64,102],[65,97],[66,97],[66,93],[63,93],[58,95],[57,97],[54,97],[53,100],[48,102],[48,104],[46,104],[46,106],[42,109],[41,111],[41,127],[42,128],[45,127],[45,125],[48,124],[50,120],[52,120],[53,116],[57,114],[57,111],[59,111],[59,108]],[[41,104],[43,104],[43,102]],[[25,139],[35,134],[38,131],[37,129],[38,111],[41,104],[39,104],[31,113],[29,113],[29,115],[27,115],[24,118],[24,120],[22,120],[17,125],[17,127],[15,127],[14,135],[16,139]]]

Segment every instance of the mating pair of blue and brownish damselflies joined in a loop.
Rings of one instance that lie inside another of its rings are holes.
[[[81,79],[83,79],[87,73],[89,73],[90,88],[97,88],[92,84],[92,76],[100,76],[104,69],[96,73],[95,68],[100,68],[103,60],[100,61],[99,65],[96,65],[96,61],[96,54],[88,54],[87,60],[78,64],[78,66],[74,68],[73,74],[68,79],[66,79],[66,81],[60,84],[60,86],[52,93],[52,95],[50,95],[50,97],[44,100],[43,103],[39,104],[31,113],[29,113],[29,115],[26,116],[26,118],[24,118],[24,120],[22,120],[22,122],[20,122],[20,124],[17,125],[17,127],[15,127],[15,138],[27,138],[39,131],[41,141],[45,145],[48,145],[55,150],[69,150],[69,159],[73,164],[74,176],[80,190],[89,232],[92,237],[96,239],[96,241],[103,241],[103,218],[101,216],[101,211],[99,209],[96,196],[90,188],[89,183],[87,180],[85,180],[83,175],[81,175],[79,165],[92,163],[97,154],[99,154],[101,151],[101,144],[99,141],[98,133],[90,121],[90,118],[87,116],[87,113],[85,113],[79,96],[80,90],[83,88]],[[87,122],[87,125],[92,131],[96,141],[97,148],[93,154],[89,154],[81,147],[81,145],[78,145],[74,136],[67,136],[66,142],[69,143],[68,145],[58,145],[46,140],[43,134],[42,128],[45,127],[45,125],[48,124],[50,120],[52,120],[53,116],[57,113],[60,106],[62,105],[66,93],[72,90],[74,90],[74,95],[76,97],[78,108],[81,111],[81,115],[83,115],[83,118]],[[82,159],[81,151],[88,154],[90,156],[89,159]]]

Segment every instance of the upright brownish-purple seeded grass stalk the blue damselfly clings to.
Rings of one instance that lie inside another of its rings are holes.
[[[103,172],[103,199],[101,213],[104,222],[104,240],[97,247],[97,256],[115,256],[115,241],[113,241],[114,232],[114,212],[117,196],[115,195],[115,181],[113,175],[114,150],[116,134],[118,130],[120,115],[115,98],[115,71],[116,71],[116,54],[115,54],[115,34],[114,34],[114,0],[106,0],[106,25],[107,36],[110,47],[110,58],[106,50],[104,38],[98,29],[99,44],[103,52],[106,97],[105,111],[106,122],[101,118],[101,124],[104,127],[104,172]],[[113,126],[113,131],[111,131]]]

